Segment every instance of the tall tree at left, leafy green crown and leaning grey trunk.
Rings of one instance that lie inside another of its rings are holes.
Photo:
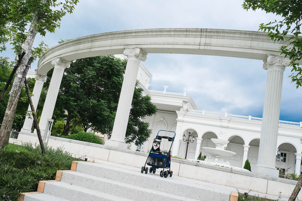
[[[66,12],[72,13],[79,0],[2,0],[0,3],[0,52],[5,51],[5,43],[13,45],[14,52],[26,52],[16,74],[22,75],[31,56],[34,39],[37,33],[45,36],[46,32],[53,33],[60,26]],[[27,30],[27,25],[29,28]],[[34,49],[41,52],[39,48]],[[24,83],[24,77],[15,76],[11,87],[10,97],[5,116],[0,129],[0,149],[8,143],[14,114],[16,111],[15,98],[19,98],[18,86]],[[6,129],[8,127],[8,129]]]

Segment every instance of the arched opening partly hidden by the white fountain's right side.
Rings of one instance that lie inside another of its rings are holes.
[[[243,162],[243,145],[244,140],[238,135],[231,136],[228,141],[226,150],[235,152],[236,155],[231,155],[229,158],[230,165],[241,168]]]

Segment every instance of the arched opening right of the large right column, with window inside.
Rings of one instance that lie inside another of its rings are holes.
[[[288,173],[296,173],[296,155],[297,149],[291,143],[281,143],[278,146],[280,149],[280,154],[276,153],[276,165],[275,167],[279,169],[279,174],[285,173],[287,170]],[[301,165],[301,164],[300,164]],[[300,174],[297,172],[297,174]]]

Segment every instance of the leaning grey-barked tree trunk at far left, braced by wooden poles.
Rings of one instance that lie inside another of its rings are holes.
[[[28,34],[27,34],[27,37],[26,37],[26,39],[24,41],[24,45],[23,45],[23,52],[25,52],[25,55],[24,55],[23,59],[21,60],[22,64],[26,64],[30,58],[34,39],[38,32],[37,26],[35,26],[35,24],[40,24],[41,19],[38,18],[38,14],[41,12],[43,12],[43,10],[38,11],[34,15],[32,21],[31,21],[31,26],[28,30]],[[20,96],[20,93],[18,93],[18,86],[20,85],[20,83],[23,86],[24,79],[22,79],[21,76],[23,75],[25,69],[26,69],[26,65],[19,65],[19,68],[16,71],[13,85],[11,87],[8,104],[6,107],[5,115],[4,115],[1,129],[0,129],[0,150],[5,145],[8,144],[8,140],[9,140],[8,131],[11,130],[11,127],[13,125],[16,106],[17,106],[18,99]],[[17,99],[17,101],[14,101],[16,99]]]

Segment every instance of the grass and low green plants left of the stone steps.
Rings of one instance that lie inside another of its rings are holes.
[[[17,200],[20,193],[37,191],[41,180],[54,180],[57,170],[70,170],[73,158],[61,148],[45,148],[31,144],[8,144],[0,151],[1,200]]]

